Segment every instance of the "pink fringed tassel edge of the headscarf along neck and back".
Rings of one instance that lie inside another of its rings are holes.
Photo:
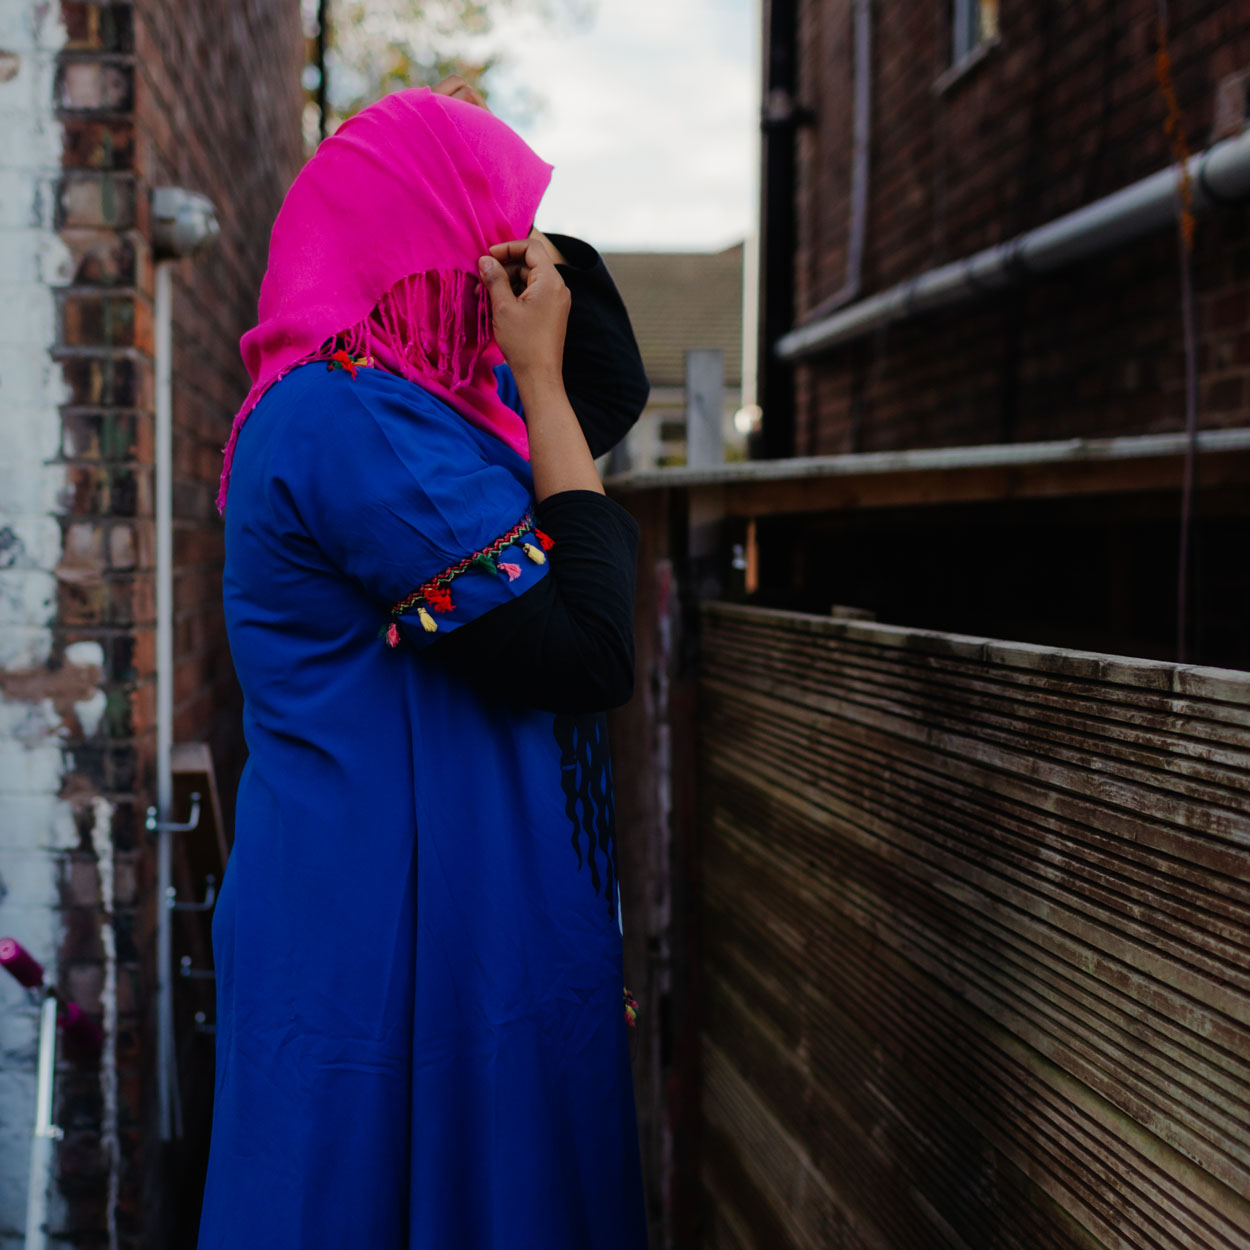
[[[438,330],[422,331],[422,325],[436,325]],[[218,511],[225,511],[240,430],[269,388],[292,369],[325,360],[328,368],[345,369],[355,381],[361,365],[376,365],[381,360],[411,382],[434,382],[456,391],[472,381],[481,354],[491,341],[490,299],[475,274],[460,269],[430,270],[401,279],[368,316],[248,391],[221,449],[225,459],[218,486]]]

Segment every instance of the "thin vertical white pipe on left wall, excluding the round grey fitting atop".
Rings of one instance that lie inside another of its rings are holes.
[[[160,1136],[180,1135],[170,909],[174,774],[172,270],[156,265],[156,1071]]]

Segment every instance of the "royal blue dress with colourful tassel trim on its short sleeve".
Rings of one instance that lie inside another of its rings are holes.
[[[380,370],[304,365],[242,430],[200,1250],[646,1244],[602,718],[425,651],[548,575],[532,506],[520,456]]]

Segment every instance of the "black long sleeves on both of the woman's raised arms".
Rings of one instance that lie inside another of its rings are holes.
[[[611,450],[638,420],[650,388],[642,358],[608,266],[589,244],[549,235],[572,296],[564,344],[564,385],[592,456]],[[446,634],[432,659],[472,679],[509,674],[502,692],[531,708],[591,712],[619,706],[634,690],[634,579],[638,524],[592,490],[549,495],[538,524],[552,539],[550,572],[524,595]],[[524,665],[491,664],[524,654]]]

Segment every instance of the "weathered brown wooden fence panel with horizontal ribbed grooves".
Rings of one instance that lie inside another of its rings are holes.
[[[1250,672],[711,604],[706,1246],[1250,1246]]]

